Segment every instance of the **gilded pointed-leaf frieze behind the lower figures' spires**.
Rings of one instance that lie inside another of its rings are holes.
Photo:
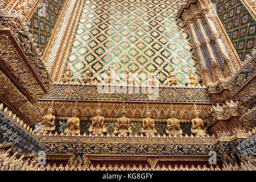
[[[42,115],[47,114],[47,110],[51,104],[49,101],[39,101],[36,107],[40,110]],[[55,101],[56,116],[59,118],[71,117],[72,109],[75,106],[75,102],[72,101]],[[79,109],[79,117],[87,119],[88,117],[93,117],[96,115],[94,111],[98,102],[77,102],[77,107]],[[154,119],[159,119],[159,121],[165,121],[170,118],[171,115],[171,104],[166,103],[151,103],[148,104],[151,109],[151,117]],[[184,121],[190,121],[193,118],[194,105],[192,104],[172,104],[175,109],[175,115],[179,119],[184,119]],[[137,102],[125,102],[127,109],[126,117],[142,119],[145,117],[146,104]],[[202,119],[206,119],[210,105],[197,104],[199,109],[199,116]],[[122,115],[122,102],[101,102],[102,116],[105,118],[119,118]],[[116,121],[114,119],[113,121]],[[133,122],[133,119],[131,120]],[[158,121],[158,120],[156,120]]]

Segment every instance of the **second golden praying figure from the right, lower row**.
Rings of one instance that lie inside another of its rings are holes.
[[[180,128],[179,119],[175,118],[175,111],[171,104],[171,118],[167,120],[167,128],[166,133],[172,136],[179,136],[182,134],[182,130]]]

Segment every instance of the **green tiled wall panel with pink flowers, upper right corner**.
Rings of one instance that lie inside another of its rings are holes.
[[[256,46],[256,22],[240,0],[213,0],[230,39],[244,60]]]

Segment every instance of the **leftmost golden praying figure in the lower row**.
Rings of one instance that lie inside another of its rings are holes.
[[[51,105],[48,108],[47,115],[43,116],[42,126],[40,127],[40,133],[49,134],[51,131],[55,130],[55,116],[53,100]]]

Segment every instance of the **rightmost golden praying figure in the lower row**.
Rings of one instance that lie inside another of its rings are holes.
[[[204,127],[204,122],[203,119],[199,118],[199,110],[195,105],[195,109],[194,109],[194,114],[195,114],[195,118],[192,119],[192,128],[191,128],[191,132],[195,133],[196,137],[203,137],[206,136],[206,130]]]

